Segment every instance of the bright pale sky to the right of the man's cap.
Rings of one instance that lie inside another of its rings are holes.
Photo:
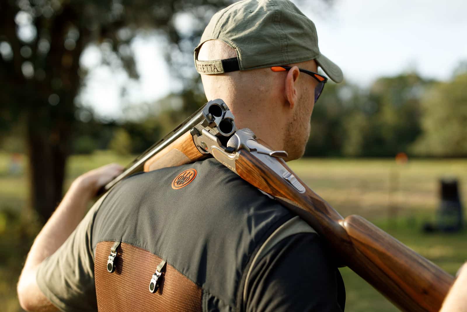
[[[448,80],[467,60],[467,1],[341,0],[325,14],[300,9],[315,21],[321,53],[361,86],[413,70]]]

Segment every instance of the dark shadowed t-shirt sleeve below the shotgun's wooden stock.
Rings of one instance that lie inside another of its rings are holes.
[[[246,311],[344,311],[344,283],[329,259],[315,233],[281,240],[248,278]]]

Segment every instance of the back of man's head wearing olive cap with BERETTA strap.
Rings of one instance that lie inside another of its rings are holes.
[[[290,128],[298,113],[309,115],[309,123],[311,111],[291,110],[297,93],[299,101],[314,94],[314,81],[298,79],[298,67],[316,72],[320,66],[335,82],[342,80],[340,68],[319,51],[314,23],[289,0],[243,0],[220,10],[206,26],[194,59],[207,100],[223,99],[240,127],[260,135],[271,132],[266,123],[279,131]],[[291,70],[276,73],[271,70],[276,66]]]

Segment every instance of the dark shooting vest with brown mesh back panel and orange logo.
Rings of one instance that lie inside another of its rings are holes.
[[[217,160],[136,174],[93,223],[98,309],[241,311],[255,263],[310,232]]]

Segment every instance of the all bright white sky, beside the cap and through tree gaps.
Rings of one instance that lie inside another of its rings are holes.
[[[361,87],[381,76],[412,71],[449,80],[460,61],[467,61],[467,1],[335,0],[332,7],[317,0],[292,2],[315,23],[321,53],[341,67],[347,82]],[[182,31],[190,25],[184,18],[177,22]],[[88,48],[81,64],[91,71],[81,102],[99,116],[122,118],[123,107],[154,102],[177,90],[161,42],[156,35],[132,41],[137,82],[124,72],[98,66],[99,49]],[[122,100],[124,85],[130,87]]]

